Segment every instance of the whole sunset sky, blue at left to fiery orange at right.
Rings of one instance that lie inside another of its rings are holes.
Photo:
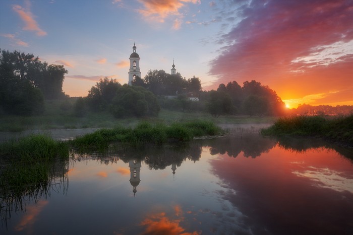
[[[290,108],[353,105],[353,0],[2,0],[0,48],[68,70],[63,91],[148,70],[203,90],[255,80]]]

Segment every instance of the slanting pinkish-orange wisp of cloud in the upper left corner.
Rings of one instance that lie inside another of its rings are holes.
[[[29,6],[29,2],[26,2]],[[38,36],[45,36],[46,32],[39,28],[38,23],[34,20],[33,14],[28,9],[22,8],[20,5],[13,5],[12,9],[19,14],[25,23],[24,30],[35,31]]]

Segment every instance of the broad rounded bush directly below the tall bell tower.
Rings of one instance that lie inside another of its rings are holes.
[[[157,98],[143,87],[124,85],[116,92],[110,112],[116,118],[157,116]]]

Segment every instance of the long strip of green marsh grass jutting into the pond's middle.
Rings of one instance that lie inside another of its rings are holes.
[[[111,142],[144,144],[161,144],[167,141],[189,141],[194,137],[221,134],[222,130],[209,121],[194,120],[189,122],[173,122],[167,125],[163,122],[154,123],[142,121],[132,127],[117,126],[111,129],[100,129],[93,133],[78,136],[69,144],[79,150],[107,148]]]

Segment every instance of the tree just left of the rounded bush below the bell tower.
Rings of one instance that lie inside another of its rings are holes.
[[[89,107],[93,111],[102,111],[107,109],[111,101],[116,95],[116,91],[121,88],[121,84],[115,79],[100,79],[91,90],[88,91],[86,97]]]

